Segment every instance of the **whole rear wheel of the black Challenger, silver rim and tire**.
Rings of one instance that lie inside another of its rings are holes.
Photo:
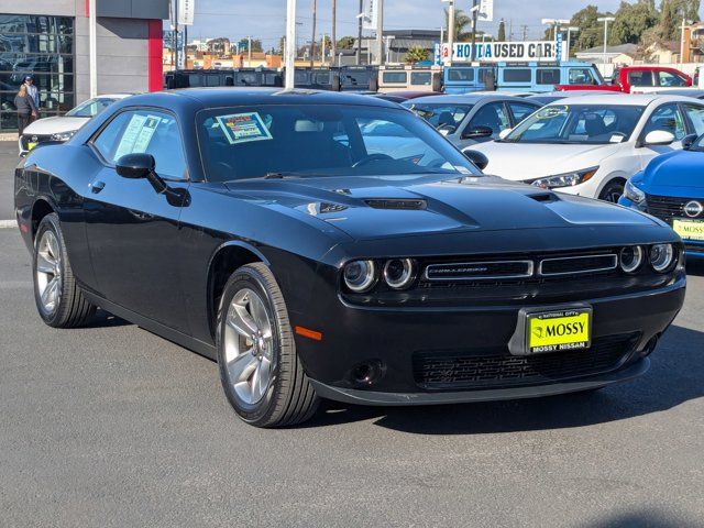
[[[36,230],[32,271],[34,300],[46,324],[74,328],[88,322],[96,307],[76,284],[56,213],[44,217]]]

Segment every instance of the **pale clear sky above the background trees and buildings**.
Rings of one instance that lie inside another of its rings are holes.
[[[174,1],[174,0],[172,0]],[[317,34],[329,33],[331,23],[331,1],[318,1]],[[469,11],[471,0],[457,0],[458,9]],[[528,37],[538,38],[543,31],[543,18],[569,19],[572,13],[587,3],[596,3],[601,10],[618,9],[619,0],[495,0],[494,22],[480,23],[480,30],[495,32],[499,19],[509,21],[514,38],[522,36],[521,25],[528,26]],[[312,0],[298,0],[299,42],[310,38]],[[384,0],[386,29],[429,29],[443,23],[440,0]],[[359,0],[338,0],[338,37],[356,34]],[[286,0],[196,0],[195,25],[188,37],[210,38],[228,36],[241,38],[252,35],[262,38],[265,48],[278,45],[285,33]]]

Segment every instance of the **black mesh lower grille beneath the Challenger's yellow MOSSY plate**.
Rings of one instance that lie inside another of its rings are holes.
[[[497,388],[556,383],[602,374],[620,366],[634,351],[639,333],[596,338],[590,350],[536,355],[435,351],[416,352],[416,384],[429,391]]]

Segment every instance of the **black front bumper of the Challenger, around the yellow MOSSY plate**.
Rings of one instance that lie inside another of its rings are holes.
[[[593,308],[593,343],[605,348],[595,344],[582,352],[586,355],[566,359],[560,355],[563,352],[539,354],[537,366],[513,356],[507,343],[521,307],[550,309],[550,305],[387,308],[336,299],[317,321],[300,314],[292,321],[322,331],[320,341],[296,337],[306,373],[322,397],[370,405],[526,398],[597,388],[641,375],[653,338],[672,322],[684,293],[681,272],[653,290],[580,299]],[[588,363],[592,353],[596,359]],[[454,363],[443,363],[448,356]],[[560,365],[572,358],[586,366]],[[360,365],[373,367],[369,383],[360,381]],[[422,377],[428,371],[430,375]]]

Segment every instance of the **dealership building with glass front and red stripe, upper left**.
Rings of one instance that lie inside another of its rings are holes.
[[[42,117],[89,98],[89,1],[2,2],[0,133],[16,130],[14,96],[25,75]],[[168,0],[96,0],[98,94],[162,88],[162,30]]]

